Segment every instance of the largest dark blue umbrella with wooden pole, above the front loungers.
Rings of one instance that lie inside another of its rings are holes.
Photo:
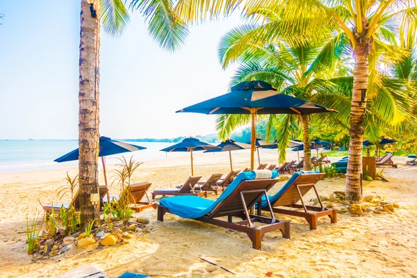
[[[211,114],[249,114],[252,117],[251,169],[254,169],[255,119],[256,114],[298,114],[336,112],[332,109],[313,104],[277,92],[272,85],[263,81],[246,81],[231,88],[231,92],[183,108],[177,113]]]

